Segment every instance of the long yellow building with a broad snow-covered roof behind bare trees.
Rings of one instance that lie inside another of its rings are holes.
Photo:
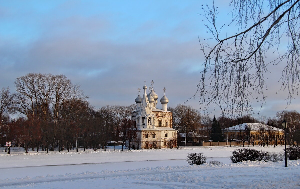
[[[223,129],[227,141],[248,141],[251,145],[284,144],[284,130],[262,123],[242,123]]]

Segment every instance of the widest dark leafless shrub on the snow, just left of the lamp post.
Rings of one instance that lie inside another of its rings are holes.
[[[240,162],[240,161],[255,161],[255,160],[263,160],[268,161],[269,152],[260,151],[257,149],[250,148],[240,148],[236,149],[232,152],[232,156],[230,157],[230,161],[232,163]]]

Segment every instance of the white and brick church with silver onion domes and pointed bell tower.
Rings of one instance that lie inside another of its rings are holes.
[[[166,88],[164,96],[161,98],[161,109],[157,108],[158,95],[152,87],[147,86],[145,81],[143,97],[135,99],[137,110],[132,111],[131,120],[135,121],[137,126],[137,137],[131,141],[131,148],[167,148],[177,145],[177,130],[172,128],[173,112],[167,110],[169,99],[166,97]],[[129,146],[127,141],[126,146]]]

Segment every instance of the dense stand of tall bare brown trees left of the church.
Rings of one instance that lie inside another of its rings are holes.
[[[1,90],[0,142],[12,141],[26,152],[104,147],[108,140],[120,140],[121,127],[128,127],[123,123],[135,109],[106,105],[95,110],[65,75],[30,73],[14,83],[16,93]],[[10,114],[20,116],[10,119]]]

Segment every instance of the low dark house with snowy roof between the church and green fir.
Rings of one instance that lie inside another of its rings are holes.
[[[181,146],[184,146],[185,144],[187,146],[199,146],[201,145],[202,141],[207,142],[209,140],[209,137],[195,132],[188,132],[187,136],[186,133],[179,133],[179,136],[180,136]],[[185,143],[185,136],[186,136],[186,143]]]

